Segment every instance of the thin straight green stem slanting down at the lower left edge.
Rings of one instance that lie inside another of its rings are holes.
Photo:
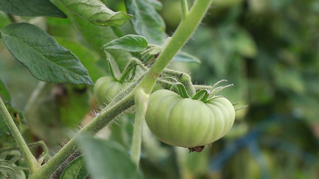
[[[1,97],[0,97],[0,113],[2,114],[6,125],[8,126],[8,128],[10,129],[16,143],[18,144],[21,153],[29,167],[30,173],[32,174],[37,166],[37,160],[35,159],[35,157],[32,155],[31,151],[29,150],[28,146],[26,145],[25,141],[23,140],[23,137],[21,136],[18,128],[16,127],[16,125],[13,122],[13,119],[10,116],[10,113],[8,112],[8,110],[6,109]]]

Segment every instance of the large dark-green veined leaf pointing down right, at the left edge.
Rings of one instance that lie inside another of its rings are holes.
[[[2,31],[11,54],[38,80],[93,86],[79,59],[42,29],[29,23],[11,23]]]

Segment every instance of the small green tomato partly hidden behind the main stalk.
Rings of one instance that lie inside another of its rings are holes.
[[[112,77],[99,78],[93,87],[93,94],[99,104],[109,104],[114,97],[123,88],[124,83],[116,81]]]

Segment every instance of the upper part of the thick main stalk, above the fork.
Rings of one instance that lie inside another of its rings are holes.
[[[194,2],[185,18],[183,18],[178,25],[165,49],[160,53],[160,56],[149,70],[146,77],[136,88],[137,91],[139,88],[143,88],[146,93],[151,93],[160,73],[196,30],[211,2],[212,0],[196,0]]]

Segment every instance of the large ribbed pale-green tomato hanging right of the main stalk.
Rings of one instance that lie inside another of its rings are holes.
[[[150,95],[145,119],[160,141],[200,152],[229,131],[235,110],[225,97],[203,102],[160,89]]]

